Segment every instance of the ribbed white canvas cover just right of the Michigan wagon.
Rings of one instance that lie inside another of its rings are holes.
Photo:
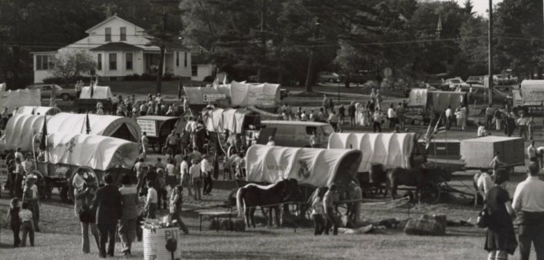
[[[372,163],[386,169],[410,167],[415,133],[332,133],[329,149],[357,149],[363,153],[359,172],[370,171]]]

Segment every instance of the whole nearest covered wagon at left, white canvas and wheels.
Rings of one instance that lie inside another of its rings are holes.
[[[109,173],[114,176],[114,183],[119,184],[120,176],[132,171],[138,156],[136,142],[83,133],[51,133],[45,155],[37,161],[37,171],[45,180],[47,196],[57,187],[62,200],[69,201],[73,185],[78,185],[78,181],[73,181],[78,169],[94,174],[99,183]]]

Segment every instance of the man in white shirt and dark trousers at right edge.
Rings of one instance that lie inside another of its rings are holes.
[[[527,179],[518,184],[512,207],[518,215],[520,259],[529,260],[531,243],[536,259],[544,259],[544,181],[538,178],[538,165],[529,163]]]

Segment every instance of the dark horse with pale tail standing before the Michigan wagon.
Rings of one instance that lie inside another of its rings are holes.
[[[238,189],[236,193],[236,205],[238,216],[242,216],[242,203],[244,205],[244,221],[249,228],[255,228],[254,214],[256,207],[270,207],[269,225],[272,224],[272,210],[275,210],[276,225],[280,225],[280,205],[298,196],[298,181],[296,179],[283,179],[271,185],[257,185],[250,183]],[[269,206],[270,205],[270,206]]]

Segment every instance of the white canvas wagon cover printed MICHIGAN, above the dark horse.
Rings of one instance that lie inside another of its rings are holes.
[[[295,178],[299,184],[325,187],[339,178],[351,179],[349,168],[359,165],[360,160],[361,151],[353,149],[253,145],[247,151],[246,174],[250,182],[277,183]],[[303,164],[307,174],[300,172]]]

